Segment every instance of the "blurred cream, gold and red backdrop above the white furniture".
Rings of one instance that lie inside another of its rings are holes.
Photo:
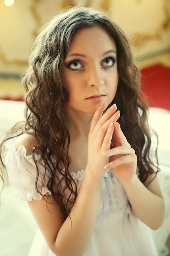
[[[64,7],[87,4],[108,12],[125,31],[150,106],[170,110],[170,0],[0,0],[0,99],[21,100],[20,75],[44,23]]]

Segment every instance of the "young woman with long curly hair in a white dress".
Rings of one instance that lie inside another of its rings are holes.
[[[60,13],[36,38],[23,83],[26,122],[2,145],[40,229],[29,255],[156,256],[157,152],[124,32],[90,8]]]

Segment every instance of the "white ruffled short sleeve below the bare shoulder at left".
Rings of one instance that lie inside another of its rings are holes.
[[[7,168],[7,173],[9,176],[9,182],[15,188],[14,195],[20,200],[31,201],[40,200],[42,195],[51,192],[46,187],[49,180],[49,172],[46,170],[46,175],[42,182],[41,179],[38,180],[38,187],[41,187],[41,192],[38,193],[35,182],[37,177],[37,170],[35,162],[32,155],[26,155],[26,148],[24,146],[19,146],[18,150],[15,148],[14,144],[15,138],[6,141],[5,146],[8,149],[7,155],[5,157],[5,166]],[[36,155],[36,160],[39,160],[40,156]],[[41,172],[45,172],[44,166],[40,163]]]

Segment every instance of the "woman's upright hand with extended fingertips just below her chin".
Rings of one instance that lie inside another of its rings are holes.
[[[104,166],[109,163],[109,158],[102,156],[102,152],[110,148],[114,123],[120,114],[114,104],[103,114],[106,104],[104,101],[97,108],[91,121],[91,128],[88,134],[88,157],[86,170],[95,175],[103,177],[106,170]]]

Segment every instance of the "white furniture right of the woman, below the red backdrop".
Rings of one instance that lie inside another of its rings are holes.
[[[158,230],[153,231],[153,235],[159,255],[168,256],[170,248],[166,247],[166,240],[170,236],[170,111],[150,108],[149,124],[159,136],[158,159],[161,171],[158,177],[166,203],[164,223]]]

